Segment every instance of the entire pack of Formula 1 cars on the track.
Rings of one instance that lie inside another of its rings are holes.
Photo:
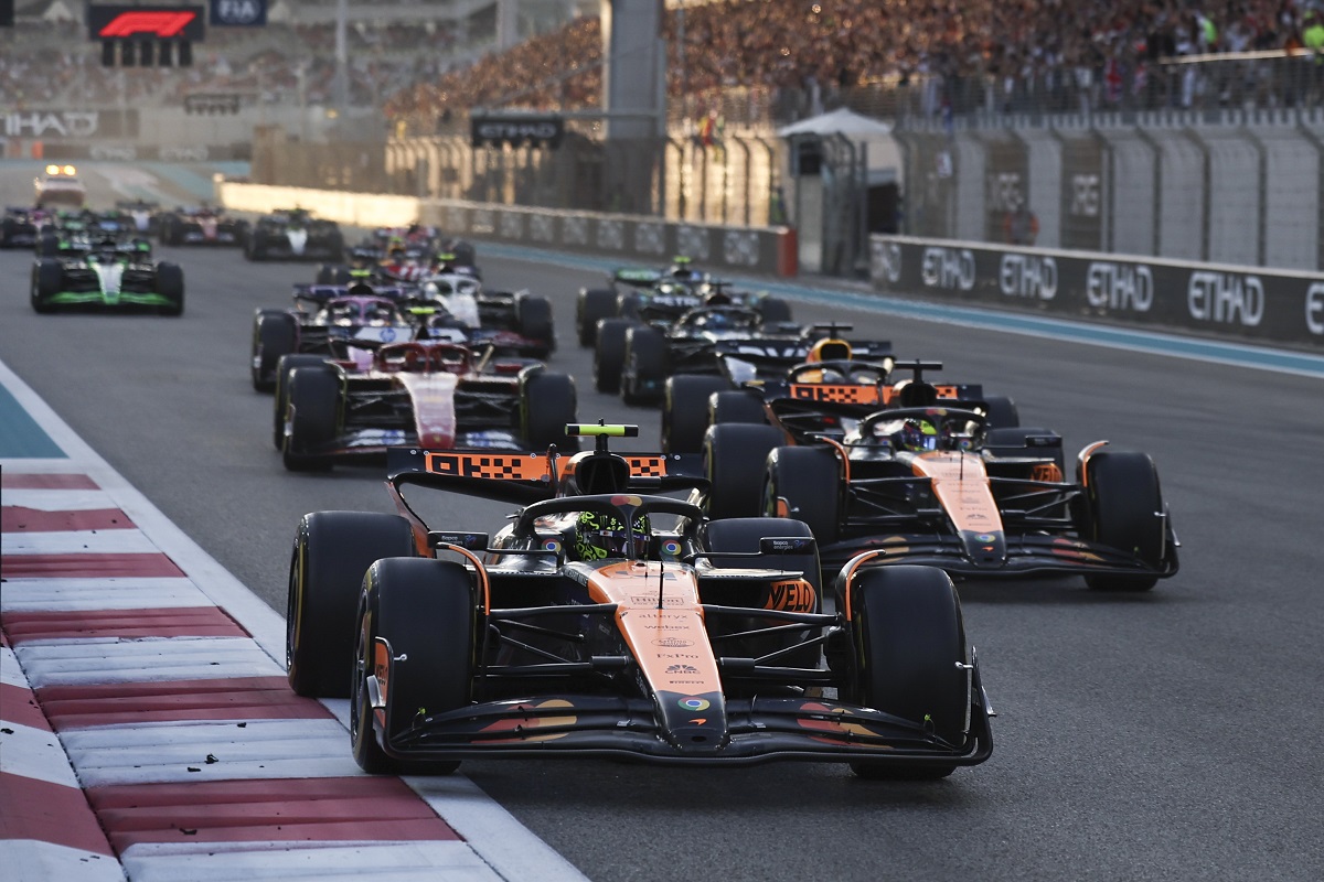
[[[683,258],[576,298],[594,389],[662,411],[658,452],[622,456],[638,428],[580,423],[544,364],[551,303],[489,290],[470,245],[413,226],[347,249],[305,212],[147,208],[13,210],[4,243],[34,249],[38,312],[179,315],[183,275],[148,235],[320,263],[257,312],[249,369],[286,468],[389,475],[396,514],[302,518],[289,582],[289,682],[350,700],[369,772],[592,755],[945,778],[992,752],[953,578],[1144,591],[1177,571],[1145,454],[1096,442],[1068,475],[1010,398]],[[417,492],[515,512],[436,530]]]

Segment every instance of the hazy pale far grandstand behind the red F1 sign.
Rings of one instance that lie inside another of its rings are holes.
[[[376,108],[410,83],[556,29],[587,0],[385,0],[348,4],[348,103]],[[596,9],[596,4],[588,4]],[[336,0],[275,0],[267,26],[211,28],[187,70],[101,71],[87,40],[83,4],[17,5],[17,28],[0,32],[0,106],[171,106],[195,91],[238,93],[249,104],[331,100]]]

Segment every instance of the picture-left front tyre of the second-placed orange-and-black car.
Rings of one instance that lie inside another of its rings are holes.
[[[763,513],[804,521],[821,545],[841,536],[841,463],[829,447],[775,447],[768,454]]]

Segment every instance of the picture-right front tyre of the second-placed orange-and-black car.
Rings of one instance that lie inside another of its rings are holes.
[[[1086,538],[1136,555],[1155,570],[1166,555],[1168,530],[1162,492],[1153,460],[1140,451],[1102,450],[1086,461]],[[1153,575],[1087,575],[1100,591],[1148,591]]]

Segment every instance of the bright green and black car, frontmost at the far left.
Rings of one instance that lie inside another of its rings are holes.
[[[61,242],[58,257],[37,258],[32,267],[32,308],[132,309],[179,316],[184,312],[184,271],[151,259],[151,243]]]

